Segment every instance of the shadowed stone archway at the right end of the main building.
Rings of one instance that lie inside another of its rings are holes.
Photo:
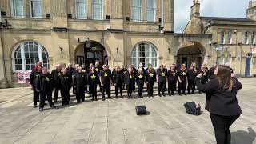
[[[190,66],[192,62],[196,63],[196,66],[202,66],[203,62],[203,47],[198,42],[187,42],[186,45],[182,46],[178,50],[177,64],[178,66],[186,64]]]

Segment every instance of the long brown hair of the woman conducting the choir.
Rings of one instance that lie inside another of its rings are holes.
[[[220,89],[232,90],[234,79],[231,77],[230,66],[219,65],[216,75]]]

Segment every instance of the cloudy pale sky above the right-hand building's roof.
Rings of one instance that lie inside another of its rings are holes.
[[[198,0],[201,16],[246,18],[249,0]],[[190,20],[190,6],[193,0],[174,0],[175,32],[182,32]]]

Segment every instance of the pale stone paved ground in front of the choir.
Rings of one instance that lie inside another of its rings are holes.
[[[256,78],[241,82],[243,114],[231,127],[232,143],[256,144]],[[0,90],[0,143],[216,143],[209,113],[188,115],[182,106],[189,101],[204,106],[205,94],[86,100],[76,105],[72,96],[70,106],[60,102],[39,113],[28,88]],[[136,105],[146,105],[149,114],[137,116]]]

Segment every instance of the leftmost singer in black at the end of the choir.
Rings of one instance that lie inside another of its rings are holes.
[[[42,66],[35,66],[30,74],[30,89],[33,90],[33,107],[36,108],[39,102],[39,93],[35,90],[35,80],[39,74],[42,74]]]

